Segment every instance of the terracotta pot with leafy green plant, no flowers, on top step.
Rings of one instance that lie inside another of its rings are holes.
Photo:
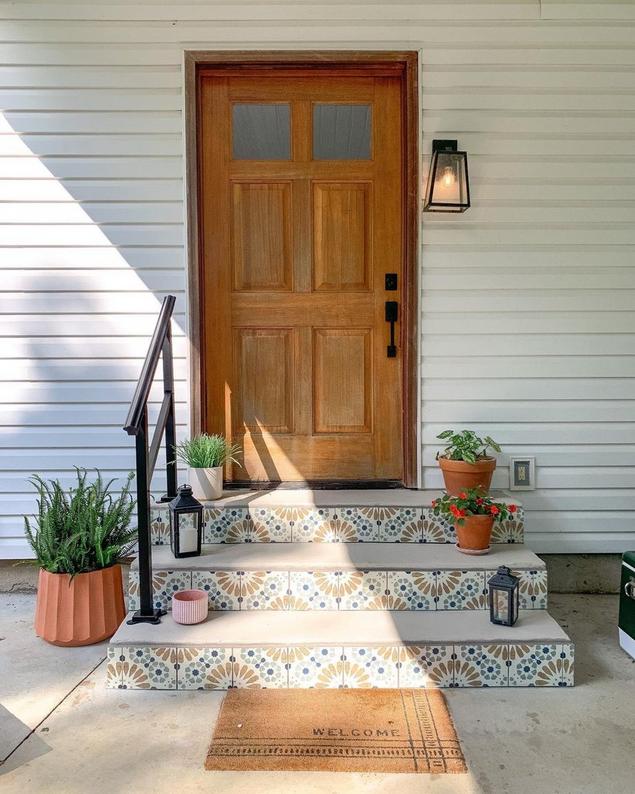
[[[479,438],[472,430],[444,430],[437,438],[448,444],[437,454],[446,491],[456,496],[466,488],[480,487],[487,493],[496,468],[496,458],[488,450],[501,451],[494,439]]]

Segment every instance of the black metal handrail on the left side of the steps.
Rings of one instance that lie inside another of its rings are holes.
[[[156,466],[161,440],[165,433],[165,469],[167,493],[162,502],[176,496],[176,443],[174,421],[174,367],[172,362],[171,319],[176,298],[167,295],[159,312],[137,388],[123,429],[135,436],[137,467],[137,535],[139,546],[139,609],[128,623],[160,623],[165,610],[154,607],[152,592],[152,544],[150,538],[150,483]],[[148,447],[148,399],[154,376],[163,358],[163,401],[154,435]]]

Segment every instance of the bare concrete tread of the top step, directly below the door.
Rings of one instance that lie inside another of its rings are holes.
[[[206,501],[206,507],[429,507],[441,491],[410,488],[334,489],[275,488],[268,491],[226,490],[221,499]],[[507,491],[491,491],[494,499],[522,505]],[[166,507],[159,503],[157,507]]]

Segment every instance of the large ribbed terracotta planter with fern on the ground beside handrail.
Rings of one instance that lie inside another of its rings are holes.
[[[128,479],[116,495],[114,480],[94,482],[77,469],[67,493],[58,480],[34,476],[37,515],[25,517],[26,537],[40,566],[35,633],[53,645],[92,645],[112,637],[126,610],[119,561],[130,554],[135,503]]]

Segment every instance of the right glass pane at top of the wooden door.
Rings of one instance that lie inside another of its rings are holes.
[[[370,160],[370,105],[314,105],[314,160]]]

